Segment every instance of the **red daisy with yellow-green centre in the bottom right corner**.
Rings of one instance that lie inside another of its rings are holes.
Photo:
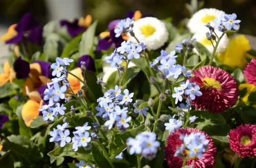
[[[241,157],[256,156],[256,125],[244,124],[229,133],[231,149]]]

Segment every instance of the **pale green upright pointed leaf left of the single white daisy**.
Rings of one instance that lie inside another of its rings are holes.
[[[93,24],[87,29],[87,31],[82,34],[82,39],[79,45],[80,55],[92,55],[92,48],[97,22],[97,20],[94,21]]]

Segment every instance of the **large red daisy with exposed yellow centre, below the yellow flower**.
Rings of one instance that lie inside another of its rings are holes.
[[[190,78],[200,86],[202,96],[192,101],[196,109],[207,110],[211,113],[224,112],[238,100],[238,87],[234,78],[219,67],[202,66],[192,72]]]

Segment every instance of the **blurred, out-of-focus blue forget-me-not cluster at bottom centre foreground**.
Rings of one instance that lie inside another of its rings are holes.
[[[142,132],[136,135],[135,138],[129,137],[126,141],[129,154],[141,154],[148,160],[156,157],[157,148],[160,143],[156,141],[156,133]]]

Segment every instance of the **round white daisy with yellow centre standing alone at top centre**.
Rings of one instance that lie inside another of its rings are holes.
[[[165,24],[155,17],[144,17],[134,22],[133,32],[140,42],[147,45],[148,50],[160,48],[168,40]],[[134,37],[131,41],[137,43]]]

